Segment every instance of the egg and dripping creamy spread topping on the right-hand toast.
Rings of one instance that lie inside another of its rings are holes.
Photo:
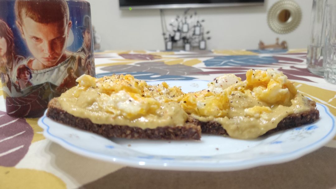
[[[200,121],[219,122],[230,137],[238,139],[257,138],[288,115],[311,108],[282,72],[248,70],[246,78],[216,78],[208,89],[185,94],[181,107]]]

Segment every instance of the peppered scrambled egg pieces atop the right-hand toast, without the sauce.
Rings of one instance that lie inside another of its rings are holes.
[[[199,116],[224,117],[232,104],[261,113],[268,105],[290,105],[297,90],[282,72],[269,70],[248,70],[246,81],[227,74],[208,83],[208,89],[185,94],[182,108],[189,114]],[[238,98],[237,98],[238,97]],[[255,108],[253,108],[256,105]]]

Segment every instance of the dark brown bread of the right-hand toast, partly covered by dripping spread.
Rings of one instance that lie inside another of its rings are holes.
[[[278,123],[278,126],[276,128],[267,131],[264,135],[269,135],[277,131],[298,127],[318,120],[320,113],[319,110],[316,109],[316,102],[308,100],[307,105],[310,107],[310,110],[304,111],[302,113],[288,115]],[[201,125],[202,133],[227,135],[226,130],[222,127],[220,123],[216,121],[202,122],[193,117],[189,117],[188,122],[194,123],[196,125]]]

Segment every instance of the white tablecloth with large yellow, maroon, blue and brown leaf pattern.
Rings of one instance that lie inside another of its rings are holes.
[[[248,69],[284,72],[305,96],[336,115],[336,85],[306,69],[305,49],[104,51],[97,77],[132,74],[150,80],[213,80]],[[235,172],[158,171],[86,158],[45,139],[38,119],[5,113],[0,89],[0,188],[336,188],[335,139],[313,153],[278,165]]]

